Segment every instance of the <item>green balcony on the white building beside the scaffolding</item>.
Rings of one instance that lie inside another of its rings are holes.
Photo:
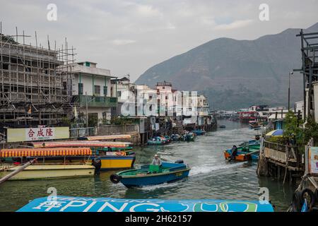
[[[73,102],[87,105],[88,107],[117,107],[117,97],[98,97],[89,95],[74,95]]]

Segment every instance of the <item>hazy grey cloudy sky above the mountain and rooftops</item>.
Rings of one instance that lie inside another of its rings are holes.
[[[259,20],[259,5],[269,5],[269,21]],[[47,20],[48,4],[57,5],[57,21]],[[86,0],[3,1],[0,20],[6,35],[16,26],[32,35],[28,43],[62,44],[67,37],[78,61],[95,61],[113,76],[132,80],[149,67],[216,39],[253,40],[286,28],[318,22],[318,0]]]

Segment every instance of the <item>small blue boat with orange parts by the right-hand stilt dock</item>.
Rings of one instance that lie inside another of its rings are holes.
[[[232,149],[224,150],[225,160],[230,160],[232,155]],[[248,160],[259,159],[259,148],[257,146],[238,147],[237,155],[235,155],[235,161],[244,162]]]

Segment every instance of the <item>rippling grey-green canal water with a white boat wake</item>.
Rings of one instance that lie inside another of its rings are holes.
[[[51,179],[5,182],[0,186],[0,211],[15,211],[34,198],[48,196],[54,187],[60,196],[165,199],[238,199],[258,200],[259,189],[269,189],[276,211],[287,210],[295,184],[285,184],[269,177],[257,177],[257,162],[225,162],[223,150],[248,141],[255,135],[247,125],[234,121],[219,121],[226,129],[218,129],[194,142],[177,142],[164,146],[135,148],[136,166],[148,164],[156,153],[163,161],[184,160],[192,169],[189,177],[171,184],[127,189],[112,184],[110,174],[78,179]]]

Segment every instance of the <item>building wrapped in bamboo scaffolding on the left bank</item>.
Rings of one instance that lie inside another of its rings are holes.
[[[17,29],[16,29],[17,30]],[[26,35],[0,29],[0,123],[9,127],[59,124],[71,117],[73,47],[25,44]],[[20,41],[20,42],[19,42]]]

